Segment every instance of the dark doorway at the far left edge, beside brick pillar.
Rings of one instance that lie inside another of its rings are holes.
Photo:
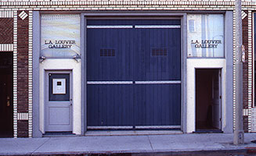
[[[13,52],[0,52],[0,137],[13,137]]]

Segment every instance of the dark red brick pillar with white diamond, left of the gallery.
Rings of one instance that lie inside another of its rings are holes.
[[[21,14],[20,14],[21,13]],[[28,11],[17,13],[17,112],[28,113]],[[24,18],[26,17],[26,18]],[[18,119],[18,137],[28,137],[28,120]]]

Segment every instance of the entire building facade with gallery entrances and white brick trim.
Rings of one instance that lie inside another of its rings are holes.
[[[243,1],[243,126],[256,131],[254,10]],[[0,2],[0,137],[233,133],[235,2]]]

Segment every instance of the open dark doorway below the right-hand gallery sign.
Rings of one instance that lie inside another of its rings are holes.
[[[222,129],[222,69],[196,69],[196,131]]]

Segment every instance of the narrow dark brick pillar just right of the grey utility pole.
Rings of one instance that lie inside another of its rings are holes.
[[[244,11],[248,15],[248,11]],[[242,20],[243,45],[245,46],[245,58],[243,63],[243,109],[248,109],[248,16]],[[243,115],[243,130],[248,132],[248,115]]]

